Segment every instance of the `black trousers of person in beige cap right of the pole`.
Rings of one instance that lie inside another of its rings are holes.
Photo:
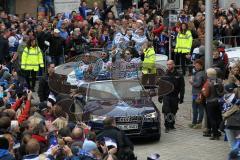
[[[207,103],[207,117],[213,136],[219,136],[219,126],[222,121],[221,109],[218,102]],[[209,126],[208,126],[209,127]]]

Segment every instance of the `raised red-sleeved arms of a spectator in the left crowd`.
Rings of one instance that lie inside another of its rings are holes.
[[[30,108],[31,108],[31,98],[32,98],[32,91],[29,90],[27,93],[27,99],[25,101],[25,107],[21,111],[21,114],[17,117],[19,124],[21,124],[23,121],[27,120],[27,118],[29,117]],[[18,99],[11,106],[11,109],[13,109],[14,111],[17,111],[20,108],[20,106],[22,105],[23,101],[24,101],[23,97]]]

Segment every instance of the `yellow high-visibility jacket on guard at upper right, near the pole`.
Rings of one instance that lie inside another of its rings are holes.
[[[187,31],[185,34],[179,32],[176,39],[175,53],[190,53],[192,48],[192,33]]]

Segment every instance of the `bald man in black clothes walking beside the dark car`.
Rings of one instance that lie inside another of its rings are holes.
[[[173,60],[167,61],[167,71],[162,80],[166,80],[173,84],[174,89],[169,94],[165,95],[163,99],[159,98],[159,101],[163,102],[162,112],[164,114],[165,132],[175,129],[175,116],[178,110],[178,104],[183,103],[185,93],[185,82],[182,74],[175,69],[175,63]]]

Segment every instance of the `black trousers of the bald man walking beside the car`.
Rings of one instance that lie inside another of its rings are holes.
[[[171,129],[175,125],[178,101],[179,100],[176,97],[163,97],[162,112],[164,114],[164,126],[167,129]]]

